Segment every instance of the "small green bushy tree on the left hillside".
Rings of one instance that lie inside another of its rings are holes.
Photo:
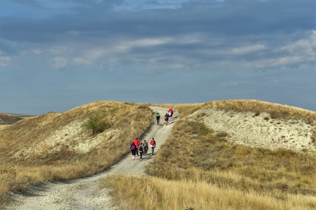
[[[82,127],[86,130],[92,130],[92,135],[94,133],[101,133],[108,127],[108,123],[102,120],[104,116],[105,113],[101,115],[98,111],[93,113],[87,112],[87,120],[82,124]]]

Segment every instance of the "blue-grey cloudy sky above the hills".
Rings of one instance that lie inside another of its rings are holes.
[[[316,111],[315,0],[0,0],[0,112],[255,99]]]

